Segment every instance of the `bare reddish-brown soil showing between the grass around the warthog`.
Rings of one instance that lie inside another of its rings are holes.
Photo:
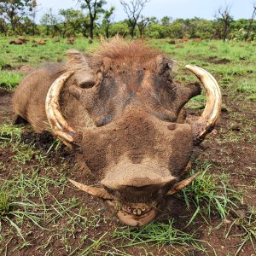
[[[219,61],[223,62],[224,60]],[[6,120],[14,119],[14,114],[11,108],[11,96],[11,92],[0,89],[0,125],[3,124],[3,122]],[[229,174],[230,184],[232,187],[243,191],[246,199],[245,205],[241,205],[241,209],[237,209],[237,212],[234,213],[234,216],[232,216],[232,214],[230,215],[229,220],[232,221],[234,218],[236,218],[236,214],[244,214],[247,208],[246,204],[254,207],[256,206],[256,147],[254,142],[251,142],[250,140],[249,132],[244,131],[244,128],[247,126],[247,120],[251,120],[253,121],[254,125],[250,126],[250,132],[255,134],[256,111],[255,106],[250,102],[229,102],[229,98],[226,97],[225,103],[229,110],[227,111],[224,109],[217,128],[212,131],[212,134],[207,138],[207,140],[201,144],[201,147],[196,148],[195,159],[197,158],[201,160],[208,160],[214,165],[210,172],[214,174],[221,174],[223,172]],[[236,115],[234,115],[234,113],[236,113]],[[189,114],[198,115],[200,113],[198,110],[190,110]],[[233,137],[241,138],[234,142]],[[53,142],[53,138],[49,134],[36,134],[32,131],[29,125],[27,125],[21,140],[26,143],[33,143],[37,148],[44,151],[46,151],[49,148],[49,145]],[[11,158],[12,154],[10,153],[9,148],[0,148],[0,161],[7,164],[7,168],[5,170],[1,170],[0,178],[6,179],[7,177],[14,177],[15,174],[10,173],[12,169],[8,164],[11,163]],[[73,168],[75,164],[74,156],[71,152],[67,151],[64,146],[61,148],[61,150],[58,151],[57,154],[49,154],[49,165],[53,165],[55,167],[61,166],[63,159],[65,159],[65,162],[67,163],[67,168],[63,172],[67,172],[68,177],[75,177],[77,180],[84,180],[86,173],[80,171],[80,169]],[[29,165],[33,165],[33,160],[31,163],[29,163]],[[69,170],[72,170],[71,173]],[[26,172],[26,168],[24,168],[24,172]],[[39,175],[44,176],[45,172],[46,171],[42,169],[40,170]],[[47,174],[50,175],[49,173]],[[54,177],[55,174],[53,173],[52,176]],[[104,240],[107,239],[109,241],[109,245],[103,244],[101,247],[102,250],[109,249],[111,244],[115,247],[121,244],[121,241],[119,241],[118,238],[113,239],[113,236],[108,236],[108,234],[114,231],[116,227],[122,226],[122,224],[119,224],[118,220],[113,218],[110,212],[106,212],[106,208],[104,207],[102,201],[96,200],[89,195],[85,195],[82,191],[77,191],[72,187],[67,187],[67,189],[64,190],[63,195],[60,195],[59,189],[53,186],[51,193],[52,195],[55,195],[55,198],[60,201],[61,198],[67,197],[79,198],[80,201],[84,201],[84,205],[92,209],[92,212],[98,212],[102,215],[102,217],[106,215],[108,216],[107,221],[103,221],[102,218],[102,221],[94,228],[90,228],[89,230],[85,231],[76,230],[75,237],[68,238],[70,240],[69,245],[73,249],[79,246],[79,239],[77,238],[84,234],[90,237],[90,239],[97,240],[107,232],[107,235],[104,236]],[[45,201],[49,204],[51,200],[52,199],[50,197],[45,199]],[[221,219],[218,216],[212,216],[209,224],[207,224],[201,217],[198,216],[195,218],[193,222],[194,224],[189,225],[187,228],[184,227],[192,217],[194,211],[195,209],[193,208],[187,209],[182,197],[173,197],[170,198],[170,200],[167,202],[166,211],[161,214],[160,218],[163,222],[165,222],[167,218],[174,218],[175,228],[183,229],[183,231],[188,233],[195,233],[198,239],[208,241],[209,244],[205,247],[208,247],[210,252],[212,251],[212,248],[214,248],[218,256],[235,255],[238,248],[237,244],[241,243],[241,237],[230,236],[230,238],[224,239],[224,231],[229,228],[229,222],[216,229],[218,224],[221,222]],[[61,226],[63,223],[58,223],[58,225]],[[8,244],[8,251],[12,253],[8,253],[8,255],[45,255],[48,248],[41,247],[36,252],[35,248],[45,243],[45,241],[47,241],[52,234],[46,230],[43,232],[39,228],[34,229],[35,230],[32,230],[32,236],[36,237],[36,239],[32,240],[32,246],[21,250],[15,250],[13,252],[13,249],[20,242],[19,238],[13,237]],[[237,227],[232,231],[231,234],[236,235],[241,233],[241,230],[239,230]],[[53,249],[52,255],[68,255],[65,248],[62,246],[60,239],[61,237],[58,236],[49,239],[49,247]],[[85,248],[90,246],[90,243],[91,241],[87,239],[84,241],[83,247]],[[183,248],[180,247],[179,250],[183,251]],[[174,255],[182,255],[174,250],[170,245],[152,246],[147,248],[147,251],[153,255],[168,255],[168,253],[174,253]],[[131,255],[146,255],[142,246],[127,247],[125,248],[125,252],[131,253]],[[204,254],[191,247],[189,248],[189,253],[185,255]],[[255,255],[253,246],[250,243],[247,243],[247,245],[243,247],[240,255]]]

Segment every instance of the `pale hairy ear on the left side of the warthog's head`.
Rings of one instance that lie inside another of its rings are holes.
[[[77,49],[67,50],[67,70],[73,70],[74,79],[80,87],[91,87],[96,82],[96,73],[90,67],[90,55],[85,55]]]

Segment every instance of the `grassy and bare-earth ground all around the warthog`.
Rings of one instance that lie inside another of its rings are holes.
[[[84,172],[54,137],[13,125],[11,96],[24,76],[20,67],[61,61],[71,47],[62,40],[31,48],[1,39],[1,255],[256,255],[256,43],[167,41],[145,44],[179,63],[177,82],[194,79],[185,64],[211,72],[224,106],[216,129],[195,148],[192,172],[201,177],[170,197],[153,224],[138,229],[120,224],[102,201],[67,183],[67,177],[86,182]],[[72,48],[95,44],[79,38]],[[189,117],[200,115],[204,102],[204,96],[189,102]]]

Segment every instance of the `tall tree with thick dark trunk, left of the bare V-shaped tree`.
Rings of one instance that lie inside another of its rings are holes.
[[[81,3],[82,0],[78,0]],[[102,6],[106,4],[105,0],[84,0],[85,3],[81,4],[82,9],[89,10],[90,16],[90,38],[93,39],[94,23],[97,15],[101,14],[104,10]]]

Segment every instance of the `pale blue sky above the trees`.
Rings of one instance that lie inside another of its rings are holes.
[[[146,3],[142,15],[155,16],[159,20],[164,16],[171,16],[172,19],[189,19],[196,16],[213,20],[218,8],[228,5],[230,6],[230,15],[235,20],[249,19],[253,14],[253,3],[256,3],[256,0],[150,0],[149,3]],[[77,0],[38,0],[38,4],[38,20],[42,15],[49,12],[50,8],[53,9],[54,14],[57,14],[59,9],[79,9]],[[119,0],[107,0],[105,9],[109,9],[111,6],[116,7],[113,15],[114,21],[126,18]]]

